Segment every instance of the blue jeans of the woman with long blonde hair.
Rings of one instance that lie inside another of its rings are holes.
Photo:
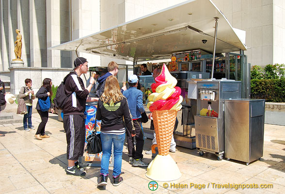
[[[111,156],[112,143],[114,144],[114,168],[113,177],[121,174],[122,168],[122,154],[125,142],[125,134],[114,135],[108,133],[101,133],[102,142],[102,160],[100,173],[105,176],[109,174],[109,160]]]

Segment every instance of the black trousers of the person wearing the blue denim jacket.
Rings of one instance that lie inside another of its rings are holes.
[[[134,147],[134,137],[131,136],[129,130],[127,130],[127,150],[128,157],[132,157],[135,160],[143,158],[143,126],[141,122],[141,118],[137,120],[133,120],[134,127],[136,129],[136,149]]]

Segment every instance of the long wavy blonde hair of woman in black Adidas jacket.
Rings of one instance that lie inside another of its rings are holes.
[[[104,103],[113,103],[121,101],[123,99],[123,94],[120,90],[120,85],[115,76],[109,76],[105,81],[104,92],[101,95],[100,99]]]

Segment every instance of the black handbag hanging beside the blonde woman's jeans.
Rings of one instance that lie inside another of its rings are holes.
[[[102,151],[101,135],[96,134],[96,130],[86,138],[87,146],[85,152],[88,154],[98,154]]]

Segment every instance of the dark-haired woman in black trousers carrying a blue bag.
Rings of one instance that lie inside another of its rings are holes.
[[[51,96],[52,96],[52,91],[51,91],[51,86],[52,82],[51,79],[45,78],[43,81],[42,87],[39,89],[39,91],[36,93],[36,97],[39,99],[42,99],[44,101],[47,100],[47,97],[49,97],[50,100],[50,109],[51,113],[53,113],[53,107],[51,103]],[[38,140],[42,140],[43,138],[48,138],[49,136],[45,134],[45,128],[48,120],[48,110],[47,111],[41,111],[39,101],[37,102],[36,105],[36,110],[40,114],[42,122],[39,124],[38,130],[34,137]]]

